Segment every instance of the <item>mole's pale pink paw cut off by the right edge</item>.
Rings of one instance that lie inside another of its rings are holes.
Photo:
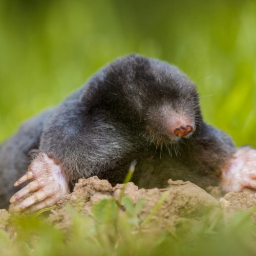
[[[225,192],[256,190],[256,150],[238,148],[222,172],[221,186]]]

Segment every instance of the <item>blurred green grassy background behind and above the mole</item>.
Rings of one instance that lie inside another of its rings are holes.
[[[0,141],[137,52],[195,83],[207,122],[256,146],[256,2],[0,0]]]

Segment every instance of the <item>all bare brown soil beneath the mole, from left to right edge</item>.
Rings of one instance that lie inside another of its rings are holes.
[[[206,191],[207,190],[207,191]],[[153,210],[153,218],[148,225],[157,224],[161,228],[178,223],[182,219],[202,221],[207,212],[214,219],[218,212],[224,211],[227,216],[241,210],[251,210],[256,206],[256,193],[246,191],[242,193],[228,193],[221,197],[218,187],[208,187],[206,190],[189,181],[168,180],[166,188],[138,188],[133,182],[117,184],[115,187],[107,180],[100,180],[94,176],[80,179],[73,193],[64,196],[51,211],[48,220],[63,231],[71,226],[71,216],[68,205],[71,205],[81,216],[91,213],[92,205],[105,198],[113,198],[120,204],[120,197],[129,197],[134,205],[144,200],[139,217],[145,220]],[[161,200],[163,201],[162,203]],[[159,208],[156,209],[156,205]],[[124,209],[120,205],[121,209]],[[8,231],[8,219],[11,215],[6,210],[0,210],[0,229]],[[252,215],[256,222],[256,213]],[[168,225],[166,225],[168,224]]]

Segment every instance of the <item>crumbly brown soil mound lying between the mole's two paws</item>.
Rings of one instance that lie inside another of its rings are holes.
[[[212,208],[219,206],[218,201],[206,193],[205,190],[191,182],[168,181],[167,188],[139,189],[134,183],[117,184],[112,187],[106,180],[99,180],[96,176],[80,179],[71,195],[62,198],[57,208],[49,216],[49,220],[58,228],[67,230],[71,224],[66,205],[72,205],[83,215],[89,215],[92,205],[104,198],[114,198],[120,202],[120,195],[129,197],[135,205],[144,200],[140,218],[144,220],[154,207],[161,201],[151,223],[164,227],[175,224],[181,218],[201,220]]]

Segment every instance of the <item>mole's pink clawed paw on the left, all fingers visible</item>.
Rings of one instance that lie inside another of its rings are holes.
[[[56,204],[59,199],[70,193],[68,182],[60,165],[45,153],[39,153],[30,164],[28,172],[18,179],[18,186],[33,179],[20,189],[10,199],[10,209],[13,211],[37,211]]]

